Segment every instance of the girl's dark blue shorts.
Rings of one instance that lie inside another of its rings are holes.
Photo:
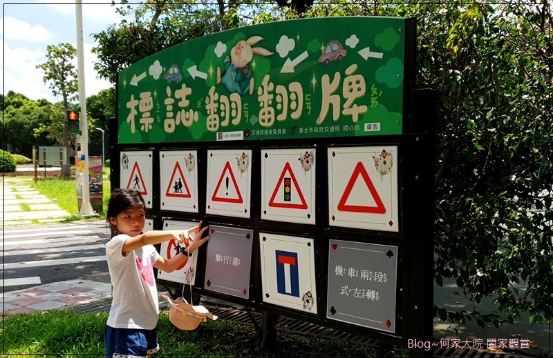
[[[138,330],[107,326],[104,344],[106,358],[145,358],[160,350],[155,328]]]

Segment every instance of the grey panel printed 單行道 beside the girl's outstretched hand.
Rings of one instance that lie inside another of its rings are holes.
[[[249,299],[253,241],[253,230],[210,225],[204,288]]]

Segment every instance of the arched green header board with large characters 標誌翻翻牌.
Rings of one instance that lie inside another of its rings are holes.
[[[402,133],[406,19],[245,26],[122,70],[119,143]]]

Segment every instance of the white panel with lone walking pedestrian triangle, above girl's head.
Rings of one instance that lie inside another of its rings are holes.
[[[152,152],[122,151],[120,155],[120,188],[137,190],[146,208],[153,208],[152,201]]]

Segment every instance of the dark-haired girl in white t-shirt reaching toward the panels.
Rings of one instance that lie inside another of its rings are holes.
[[[201,221],[185,231],[142,232],[144,208],[144,199],[136,190],[116,189],[109,199],[106,217],[112,238],[106,243],[106,257],[113,299],[104,332],[106,358],[151,357],[159,350],[158,290],[152,267],[171,272],[209,239],[202,238],[207,226],[200,230]],[[184,243],[186,248],[166,260],[153,245],[171,239]]]

